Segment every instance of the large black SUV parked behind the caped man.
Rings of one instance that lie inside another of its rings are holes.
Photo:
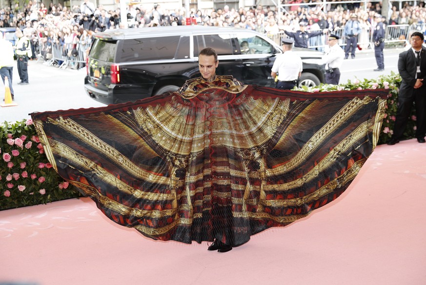
[[[242,43],[248,43],[248,48],[241,48]],[[232,75],[244,84],[275,85],[271,68],[283,51],[262,34],[231,27],[167,26],[96,34],[84,88],[90,97],[106,104],[176,91],[186,80],[201,76],[198,54],[205,47],[218,54],[218,75]],[[324,82],[322,53],[293,50],[303,61],[300,85]]]

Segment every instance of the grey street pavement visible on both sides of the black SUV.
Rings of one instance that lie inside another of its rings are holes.
[[[373,71],[377,67],[374,51],[357,51],[355,59],[344,61],[340,82],[377,78],[382,74],[398,73],[398,54],[403,49],[385,50],[385,70]],[[46,66],[42,62],[30,61],[28,64],[29,84],[18,85],[18,69],[13,69],[13,88],[18,106],[0,107],[0,123],[29,119],[29,113],[101,107],[105,104],[91,99],[84,91],[86,69],[59,69]],[[4,98],[4,86],[0,81],[0,97]],[[2,99],[0,99],[2,100]]]

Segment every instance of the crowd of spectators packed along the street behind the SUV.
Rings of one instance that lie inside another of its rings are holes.
[[[234,26],[276,35],[284,30],[297,30],[301,21],[306,22],[307,30],[329,29],[332,32],[343,28],[350,15],[356,13],[363,25],[359,42],[365,42],[374,25],[374,15],[382,12],[379,3],[371,2],[363,7],[360,2],[346,4],[336,1],[329,5],[327,13],[320,5],[307,5],[303,0],[284,0],[284,3],[300,5],[287,7],[285,13],[279,13],[275,6],[261,5],[239,9],[230,9],[225,5],[223,9],[213,11],[191,9],[189,22],[183,9],[170,11],[160,5],[146,7],[129,4],[126,21],[129,28],[200,24]],[[387,19],[385,18],[386,23],[425,23],[424,3],[420,2],[418,6],[405,3],[401,10],[389,3],[392,8],[388,11]],[[90,46],[94,33],[122,28],[124,25],[119,8],[107,10],[102,5],[95,7],[90,0],[83,0],[80,6],[74,5],[71,8],[53,3],[46,7],[43,3],[30,0],[23,8],[15,4],[13,7],[0,9],[0,27],[19,27],[30,38],[36,51],[34,54],[45,56],[52,44],[61,46],[64,52],[67,46],[86,48]]]

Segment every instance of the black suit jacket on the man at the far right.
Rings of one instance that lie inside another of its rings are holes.
[[[398,96],[410,97],[414,91],[417,71],[416,56],[411,48],[399,54],[398,71],[402,78]],[[424,46],[420,52],[420,71],[420,78],[423,79],[423,85],[420,88],[423,89],[426,87],[426,48]]]

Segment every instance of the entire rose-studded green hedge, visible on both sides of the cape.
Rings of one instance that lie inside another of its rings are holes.
[[[385,120],[378,144],[386,143],[392,134],[401,78],[392,73],[374,80],[348,81],[340,85],[321,84],[299,90],[327,92],[335,90],[389,89]],[[414,111],[406,127],[406,139],[415,135]],[[0,210],[79,197],[71,184],[63,181],[44,154],[31,120],[4,122],[0,126]]]

